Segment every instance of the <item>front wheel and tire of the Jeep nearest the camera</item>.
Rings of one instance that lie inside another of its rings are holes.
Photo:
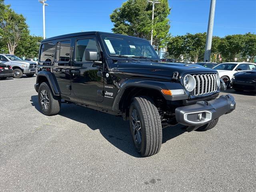
[[[138,153],[143,157],[157,154],[162,145],[162,125],[152,98],[133,98],[129,116],[132,140]]]

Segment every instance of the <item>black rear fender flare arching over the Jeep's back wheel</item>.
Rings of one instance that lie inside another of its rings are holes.
[[[50,88],[52,90],[52,93],[54,96],[60,96],[60,88],[58,86],[57,80],[55,78],[55,76],[49,72],[49,71],[40,71],[37,74],[36,77],[36,84],[35,84],[35,89],[38,92],[38,88],[39,88],[39,83],[38,80],[40,79],[40,77],[45,77],[48,80],[48,83],[50,84]]]

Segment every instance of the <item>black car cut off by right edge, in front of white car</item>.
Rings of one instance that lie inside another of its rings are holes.
[[[231,79],[231,85],[236,91],[256,92],[256,68],[235,73]]]

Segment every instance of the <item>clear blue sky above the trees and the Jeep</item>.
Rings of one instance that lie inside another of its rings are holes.
[[[42,4],[38,0],[5,0],[23,14],[30,34],[43,36]],[[109,15],[125,0],[47,0],[46,38],[81,31],[112,32]],[[160,6],[158,4],[156,6]],[[210,0],[169,0],[172,36],[206,32]],[[214,36],[256,33],[256,0],[217,0]]]

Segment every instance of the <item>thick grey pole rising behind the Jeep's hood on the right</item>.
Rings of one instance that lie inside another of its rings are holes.
[[[207,29],[207,36],[206,36],[206,45],[205,45],[205,52],[204,52],[204,62],[210,62],[210,59],[211,59],[212,31],[213,31],[215,4],[216,4],[216,0],[211,0],[208,29]]]

